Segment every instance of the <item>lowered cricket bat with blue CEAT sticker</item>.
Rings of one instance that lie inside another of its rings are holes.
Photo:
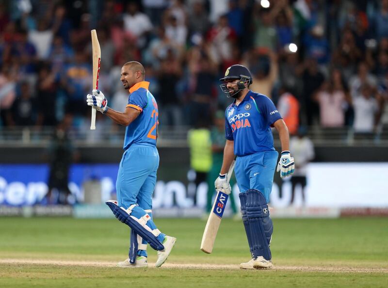
[[[226,176],[228,183],[230,181],[230,177],[233,174],[233,169],[235,164],[236,164],[236,160],[233,160]],[[217,196],[215,197],[213,208],[211,208],[208,222],[206,223],[205,231],[203,232],[203,236],[202,236],[201,250],[205,253],[210,254],[211,251],[213,250],[214,240],[217,236],[218,228],[220,227],[220,224],[221,224],[222,215],[224,214],[228,197],[229,195],[224,192],[221,192],[221,191],[217,192]]]

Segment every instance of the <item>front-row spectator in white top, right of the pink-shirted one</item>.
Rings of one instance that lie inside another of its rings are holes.
[[[355,133],[362,133],[364,136],[372,135],[376,127],[376,115],[378,112],[378,103],[372,97],[373,90],[368,83],[360,87],[360,92],[353,98],[355,109]]]

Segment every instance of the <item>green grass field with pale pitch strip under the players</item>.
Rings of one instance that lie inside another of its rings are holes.
[[[211,255],[204,221],[156,223],[178,238],[165,267],[120,269],[129,229],[115,219],[0,218],[0,287],[387,287],[387,218],[275,219],[275,269],[260,271],[238,269],[250,258],[241,221],[223,220]]]

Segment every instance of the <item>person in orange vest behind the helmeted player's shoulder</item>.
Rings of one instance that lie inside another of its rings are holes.
[[[277,110],[282,115],[290,135],[295,135],[299,127],[299,102],[285,87],[279,90]]]

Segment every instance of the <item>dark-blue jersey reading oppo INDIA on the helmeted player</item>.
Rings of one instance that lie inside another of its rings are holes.
[[[271,99],[249,90],[238,106],[235,103],[225,111],[225,137],[234,141],[234,154],[275,150],[270,127],[282,117]]]

